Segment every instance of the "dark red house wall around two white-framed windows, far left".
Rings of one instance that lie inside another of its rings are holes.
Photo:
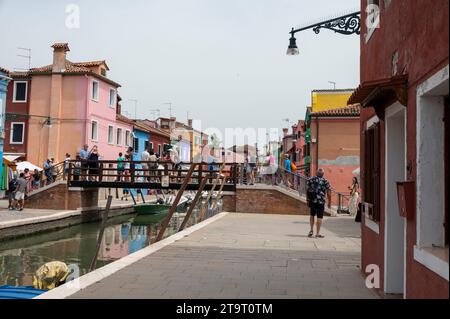
[[[31,92],[31,81],[26,78],[15,78],[8,84],[8,92],[6,93],[6,120],[5,120],[5,141],[4,141],[4,153],[27,153],[27,135],[28,135],[28,119],[27,117],[11,117],[10,113],[16,114],[29,114],[29,104],[30,104],[30,92]],[[14,92],[14,81],[28,81],[27,86],[27,101],[25,103],[13,103],[13,92]],[[43,119],[44,120],[44,119]],[[12,122],[23,122],[25,123],[23,144],[11,144],[11,123]],[[21,157],[20,160],[26,160],[27,156]],[[41,163],[34,163],[36,165],[41,165]]]

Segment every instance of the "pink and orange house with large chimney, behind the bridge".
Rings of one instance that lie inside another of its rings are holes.
[[[71,62],[67,43],[56,43],[53,64],[33,68],[30,92],[28,160],[40,164],[97,145],[101,159],[116,159],[132,144],[132,125],[117,123],[117,89],[105,61]]]

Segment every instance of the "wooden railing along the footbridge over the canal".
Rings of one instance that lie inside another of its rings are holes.
[[[189,184],[199,184],[202,177],[209,183],[219,173],[222,163],[178,163],[170,161],[117,161],[117,160],[71,160],[67,180],[71,184],[114,183],[120,188],[123,184],[180,184],[186,178],[191,165],[195,169],[189,177]],[[221,174],[227,185],[236,185],[236,163],[225,163]],[[101,185],[100,185],[101,186]],[[126,187],[124,187],[126,188]]]

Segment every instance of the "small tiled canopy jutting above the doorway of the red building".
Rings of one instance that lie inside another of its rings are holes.
[[[396,75],[373,81],[362,82],[352,94],[347,104],[361,104],[362,107],[373,106],[375,109],[399,101],[403,105],[408,102],[408,75]]]

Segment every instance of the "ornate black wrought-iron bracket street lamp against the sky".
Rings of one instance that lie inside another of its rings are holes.
[[[300,54],[300,50],[298,49],[297,46],[297,39],[295,38],[294,35],[297,32],[301,32],[308,29],[312,29],[316,34],[319,34],[321,29],[328,29],[344,35],[351,35],[351,34],[359,35],[361,31],[361,12],[360,11],[352,12],[340,17],[307,25],[299,29],[292,28],[291,32],[289,32],[291,38],[289,39],[289,47],[286,52],[287,55]]]

